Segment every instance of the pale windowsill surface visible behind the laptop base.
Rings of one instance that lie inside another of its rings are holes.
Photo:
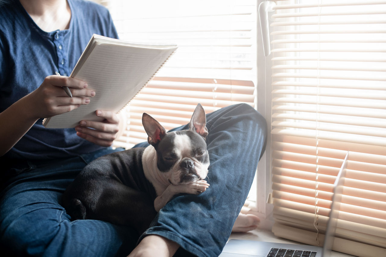
[[[291,240],[276,237],[271,231],[257,228],[247,233],[232,233],[229,239],[255,240],[263,242],[277,242],[285,244],[300,244]],[[352,257],[354,255],[343,254],[341,252],[331,252],[331,257]]]

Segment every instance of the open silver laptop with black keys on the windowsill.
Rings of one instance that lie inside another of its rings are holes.
[[[347,151],[347,155],[335,179],[331,212],[328,217],[323,247],[231,239],[225,244],[219,257],[330,257],[332,245],[334,244],[348,158],[349,151]]]

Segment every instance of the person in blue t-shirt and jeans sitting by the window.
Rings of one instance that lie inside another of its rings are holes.
[[[171,200],[142,235],[100,220],[71,221],[60,205],[87,163],[122,150],[111,145],[124,117],[106,110],[95,112],[102,122],[80,121],[75,129],[42,126],[42,118],[95,96],[86,82],[68,77],[94,33],[118,38],[108,10],[96,3],[0,1],[0,249],[19,256],[217,256],[266,144],[266,121],[247,104],[207,114],[210,187]],[[245,221],[240,230],[256,225]]]

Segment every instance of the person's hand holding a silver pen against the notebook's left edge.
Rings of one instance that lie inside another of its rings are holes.
[[[72,98],[66,94],[63,86],[69,87]],[[95,92],[87,89],[86,82],[71,77],[52,75],[46,77],[43,83],[25,98],[29,101],[30,115],[39,119],[72,111],[81,104],[88,104],[89,97],[93,96]]]

